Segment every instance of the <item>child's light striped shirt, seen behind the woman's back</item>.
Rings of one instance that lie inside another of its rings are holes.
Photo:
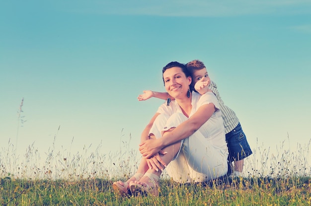
[[[222,111],[222,117],[224,119],[225,132],[226,134],[228,134],[237,126],[239,120],[235,112],[231,108],[229,108],[229,106],[225,105],[224,101],[220,97],[216,83],[211,81],[209,88],[216,95],[217,100],[220,104],[220,110]]]

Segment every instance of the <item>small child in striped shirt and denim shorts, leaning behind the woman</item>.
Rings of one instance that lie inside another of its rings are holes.
[[[188,62],[186,66],[192,74],[192,83],[190,88],[201,95],[205,94],[207,89],[210,88],[220,103],[222,117],[224,119],[226,141],[229,148],[229,161],[230,164],[234,162],[233,168],[229,167],[228,169],[228,175],[233,177],[240,176],[243,171],[244,158],[252,154],[252,151],[248,145],[239,120],[235,112],[224,104],[217,90],[217,85],[211,81],[208,76],[204,63],[199,60],[193,60]],[[155,97],[163,100],[167,99],[167,103],[169,104],[169,101],[172,99],[167,93],[154,92],[150,90],[143,92],[144,94],[138,96],[139,101],[145,101],[149,98]]]

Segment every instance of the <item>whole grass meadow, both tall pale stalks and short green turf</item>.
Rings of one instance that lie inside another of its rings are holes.
[[[298,146],[297,153],[284,150],[283,145],[277,155],[256,147],[253,156],[246,159],[245,175],[240,178],[181,185],[164,172],[157,198],[124,198],[113,193],[112,182],[126,180],[138,165],[138,152],[128,147],[129,142],[120,144],[120,151],[104,155],[99,153],[100,145],[95,150],[89,146],[82,153],[68,154],[56,152],[53,144],[41,165],[41,156],[33,145],[21,161],[13,159],[15,150],[9,143],[0,151],[0,205],[311,205],[311,167],[306,158],[310,143]]]

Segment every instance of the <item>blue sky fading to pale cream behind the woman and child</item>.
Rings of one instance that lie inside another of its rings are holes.
[[[310,0],[12,0],[0,2],[1,147],[137,148],[162,103],[137,96],[193,59],[251,148],[310,141]]]

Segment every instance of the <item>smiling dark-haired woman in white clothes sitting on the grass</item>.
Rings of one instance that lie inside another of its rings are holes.
[[[158,196],[164,167],[177,182],[203,182],[227,173],[228,148],[219,103],[209,90],[190,91],[191,75],[184,64],[170,62],[162,69],[165,90],[175,100],[162,104],[142,133],[143,155],[137,173],[127,182],[114,182],[122,195]]]

